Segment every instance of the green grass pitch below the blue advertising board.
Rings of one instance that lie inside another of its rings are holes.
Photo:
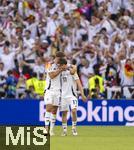
[[[61,137],[61,127],[51,137],[51,150],[134,150],[134,127],[78,127],[78,136]]]

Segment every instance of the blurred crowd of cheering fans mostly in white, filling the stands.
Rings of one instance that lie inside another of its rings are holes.
[[[102,92],[134,95],[134,1],[0,0],[1,98],[42,97],[57,51],[78,66],[85,93],[98,75]]]

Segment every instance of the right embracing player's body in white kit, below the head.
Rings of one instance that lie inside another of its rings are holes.
[[[76,124],[77,124],[77,107],[78,107],[78,97],[77,97],[77,87],[80,91],[82,100],[86,101],[86,96],[84,95],[83,87],[80,79],[75,73],[71,75],[68,70],[62,72],[62,101],[60,110],[62,111],[62,136],[67,135],[67,112],[69,106],[72,112],[72,134],[76,136]]]

